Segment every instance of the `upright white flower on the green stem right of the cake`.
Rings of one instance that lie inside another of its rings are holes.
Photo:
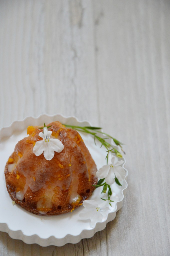
[[[124,161],[118,161],[115,163],[115,156],[112,156],[111,152],[108,154],[108,164],[101,167],[96,175],[98,178],[105,178],[105,182],[108,185],[111,185],[115,182],[115,177],[118,178],[119,181],[125,179],[125,170],[120,165],[123,164]]]

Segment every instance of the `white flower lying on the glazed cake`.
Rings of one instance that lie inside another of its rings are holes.
[[[36,156],[40,156],[44,151],[44,157],[47,160],[51,160],[54,157],[54,151],[60,153],[63,150],[64,145],[58,139],[50,138],[52,131],[48,131],[46,126],[43,128],[43,131],[44,133],[39,133],[39,136],[43,138],[43,140],[35,143],[33,153]]]

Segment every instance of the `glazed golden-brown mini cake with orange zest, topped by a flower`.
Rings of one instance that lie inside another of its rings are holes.
[[[60,122],[44,125],[44,134],[41,128],[28,126],[28,137],[16,144],[5,166],[6,187],[31,213],[63,214],[91,196],[97,168],[77,131]]]

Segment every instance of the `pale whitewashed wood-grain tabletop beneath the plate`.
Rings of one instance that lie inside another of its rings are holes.
[[[0,232],[1,256],[170,255],[169,13],[169,0],[0,1],[0,127],[75,115],[125,143],[129,170],[103,231],[45,248]]]

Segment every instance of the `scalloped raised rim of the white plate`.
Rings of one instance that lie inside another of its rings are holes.
[[[27,119],[31,119],[33,118],[34,120],[38,120],[40,119],[42,116],[47,116],[49,118],[54,118],[55,116],[60,116],[61,118],[64,118],[64,119],[75,119],[78,123],[85,123],[87,122],[90,126],[91,126],[91,123],[87,120],[82,120],[82,121],[79,121],[78,118],[76,116],[64,116],[62,114],[53,114],[53,115],[49,115],[49,114],[40,114],[38,117],[35,117],[35,116],[26,116],[23,120],[15,120],[13,121],[9,126],[4,126],[0,129],[0,139],[2,137],[3,134],[2,131],[3,129],[10,129],[12,128],[12,126],[15,124],[15,123],[19,123],[19,122],[25,122]],[[25,127],[26,129],[26,127]],[[17,130],[15,127],[13,127],[13,130],[12,131],[15,131]],[[22,129],[23,130],[23,129]],[[25,243],[27,244],[33,244],[33,243],[36,243],[36,244],[39,244],[40,246],[42,247],[46,247],[46,246],[49,246],[49,245],[55,245],[55,246],[63,246],[67,243],[78,243],[81,239],[84,239],[84,238],[91,238],[96,232],[98,231],[101,231],[103,230],[107,223],[112,221],[115,217],[116,217],[116,212],[118,210],[121,209],[122,207],[122,204],[123,204],[123,199],[124,199],[124,196],[125,196],[125,193],[126,193],[126,189],[128,187],[128,184],[126,182],[126,179],[127,179],[127,176],[128,176],[128,170],[124,167],[126,161],[125,161],[125,158],[123,157],[123,160],[124,160],[124,163],[123,163],[123,168],[125,169],[126,171],[126,176],[125,176],[125,183],[126,183],[126,186],[124,189],[122,189],[121,193],[123,195],[122,199],[120,201],[117,201],[116,202],[116,208],[114,211],[112,212],[108,212],[107,214],[107,218],[105,221],[103,222],[96,222],[95,223],[95,227],[93,227],[92,229],[83,229],[80,234],[78,235],[72,235],[72,234],[66,234],[66,236],[64,237],[61,237],[61,238],[56,238],[54,235],[51,235],[50,237],[48,238],[42,238],[40,237],[38,234],[31,234],[30,236],[28,235],[25,235],[23,233],[22,230],[12,230],[12,228],[9,227],[8,223],[0,223],[0,230],[3,231],[3,232],[6,232],[9,234],[9,236],[13,239],[19,239],[19,240],[22,240],[24,241]],[[3,227],[1,227],[3,226]],[[17,238],[16,238],[17,237]],[[35,239],[36,238],[36,239]]]

